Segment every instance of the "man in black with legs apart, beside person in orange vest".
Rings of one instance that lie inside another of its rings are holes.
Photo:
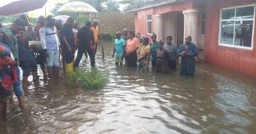
[[[91,66],[95,66],[95,37],[91,30],[91,22],[87,22],[85,27],[81,27],[77,33],[79,39],[77,58],[75,59],[74,67],[78,67],[79,62],[83,56],[83,53],[87,51],[91,59]]]

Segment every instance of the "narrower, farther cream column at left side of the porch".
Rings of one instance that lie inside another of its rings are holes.
[[[155,15],[154,33],[157,35],[157,40],[163,39],[163,18],[160,14]]]

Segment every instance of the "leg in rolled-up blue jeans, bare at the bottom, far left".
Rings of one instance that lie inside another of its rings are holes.
[[[20,80],[20,69],[18,68],[18,66],[15,67],[16,69],[16,74],[17,74],[17,82],[15,82],[13,84],[13,90],[14,93],[16,95],[16,97],[18,98],[18,103],[20,104],[20,107],[24,107],[24,101],[22,98],[22,87],[21,87],[21,80]]]

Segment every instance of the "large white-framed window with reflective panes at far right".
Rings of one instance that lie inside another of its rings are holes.
[[[255,6],[221,9],[219,44],[252,48]]]

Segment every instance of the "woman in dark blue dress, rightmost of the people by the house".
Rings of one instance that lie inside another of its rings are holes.
[[[181,75],[183,76],[193,76],[195,73],[195,56],[198,56],[198,48],[191,41],[192,37],[186,36],[185,43],[181,44],[178,50],[178,54],[181,56]]]

